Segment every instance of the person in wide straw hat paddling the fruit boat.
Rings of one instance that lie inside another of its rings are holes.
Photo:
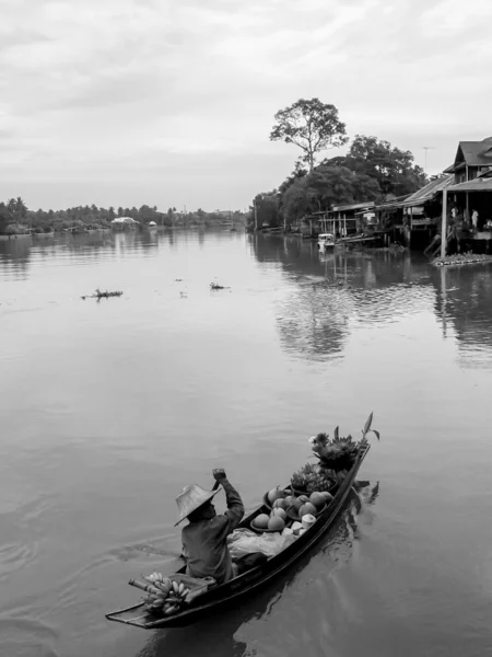
[[[187,575],[213,577],[218,584],[224,584],[236,574],[227,548],[227,537],[239,525],[244,506],[224,470],[214,470],[213,477],[225,491],[227,510],[222,515],[215,512],[212,498],[219,491],[204,491],[194,484],[187,486],[176,498],[179,509],[176,525],[186,518],[189,520],[181,532]]]

